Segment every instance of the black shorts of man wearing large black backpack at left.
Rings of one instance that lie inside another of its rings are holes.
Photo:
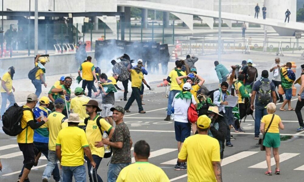
[[[19,149],[23,154],[23,164],[34,164],[35,154],[38,153],[38,149],[33,143],[18,143]]]

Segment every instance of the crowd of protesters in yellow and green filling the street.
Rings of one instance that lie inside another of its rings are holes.
[[[3,130],[11,136],[17,136],[24,157],[18,181],[30,181],[28,175],[32,167],[38,164],[41,153],[47,158],[47,166],[42,174],[43,182],[49,181],[52,175],[55,181],[70,182],[73,177],[75,181],[86,181],[85,162],[90,182],[95,179],[102,182],[97,170],[102,159],[109,157],[108,182],[169,181],[161,168],[148,162],[150,146],[144,140],[135,143],[133,156],[136,162],[131,164],[133,140],[123,117],[126,112],[131,112],[129,109],[134,100],[138,105],[138,113],[145,113],[143,88],[144,85],[151,88],[144,79],[143,75],[148,72],[141,59],[137,60],[135,66],[132,65],[134,60],[126,54],[119,59],[118,63],[112,60],[113,74],[108,77],[91,63],[92,57],[87,57],[78,70],[76,81],[82,81],[82,87],[75,88],[74,97],[70,88],[72,78],[62,76],[52,86],[48,97],[39,98],[41,84],[47,86],[44,75],[47,60],[37,55],[34,61],[36,72],[32,80],[36,93],[29,94],[26,104],[21,107],[14,105],[15,88],[12,81],[15,68],[10,67],[3,75],[0,88]],[[188,181],[223,181],[221,162],[224,149],[225,146],[233,146],[231,140],[236,139],[230,130],[244,132],[240,122],[255,110],[254,139],[260,139],[260,132],[264,134],[263,145],[268,166],[265,174],[272,175],[271,148],[275,156],[275,174],[280,174],[279,129],[284,129],[284,125],[280,117],[274,114],[275,103],[277,100],[282,102],[281,111],[294,110],[290,105],[292,87],[295,83],[301,84],[295,108],[300,126],[296,131],[304,130],[301,114],[304,106],[304,74],[296,80],[292,64],[287,62],[282,65],[279,58],[275,59],[270,69],[273,72],[272,81],[268,79],[268,70],[263,70],[261,77],[258,77],[253,60],[243,60],[241,66],[231,66],[231,72],[215,61],[220,84],[218,89],[209,91],[204,85],[205,79],[197,73],[194,65],[197,61],[197,57],[190,55],[187,55],[186,60],[175,61],[176,67],[166,79],[170,93],[164,120],[174,120],[179,152],[174,170],[187,170]],[[301,68],[304,73],[304,65]],[[117,86],[117,81],[122,82],[124,89]],[[129,81],[132,93],[127,99]],[[94,82],[97,82],[98,89],[94,88]],[[276,87],[282,87],[285,100],[282,93],[276,93]],[[101,94],[101,106],[92,99],[92,90],[95,97]],[[114,93],[117,90],[124,92],[123,100],[127,101],[124,107],[115,106]],[[236,98],[236,105],[227,101],[231,97]],[[10,102],[8,109],[7,100]],[[286,104],[288,109],[284,109]],[[191,115],[188,114],[189,110],[192,111]],[[22,116],[19,117],[20,125],[9,125],[18,115]]]

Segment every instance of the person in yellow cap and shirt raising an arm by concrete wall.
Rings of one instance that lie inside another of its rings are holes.
[[[44,67],[47,61],[46,59],[39,59],[40,56],[41,55],[38,54],[35,58],[34,63],[35,63],[35,67],[38,67],[38,70],[35,74],[35,80],[32,80],[32,84],[36,88],[35,94],[37,95],[37,97],[39,97],[42,92],[41,84],[43,84],[45,88],[47,88],[47,83],[45,82],[45,67]]]

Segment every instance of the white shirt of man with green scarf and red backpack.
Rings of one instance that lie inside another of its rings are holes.
[[[190,107],[191,99],[175,98],[177,94],[175,94],[172,102],[172,107],[174,107],[174,121],[188,123],[188,108]],[[192,104],[195,105],[196,101],[192,94],[191,97]]]

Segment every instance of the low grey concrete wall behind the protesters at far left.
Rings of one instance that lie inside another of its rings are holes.
[[[45,65],[46,75],[75,73],[78,71],[79,65],[75,60],[76,53],[64,53],[50,55],[50,62]],[[94,52],[87,52],[88,56],[94,57]],[[92,61],[96,64],[96,60]],[[14,66],[16,74],[14,79],[27,78],[29,70],[34,68],[34,56],[24,56],[18,58],[0,59],[1,76]],[[102,68],[101,68],[102,69]]]

